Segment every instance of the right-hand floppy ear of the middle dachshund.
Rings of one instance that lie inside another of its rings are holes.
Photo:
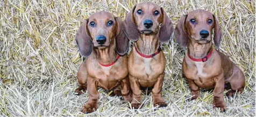
[[[170,36],[173,34],[173,23],[168,18],[166,12],[162,9],[162,25],[159,32],[159,41],[165,43],[170,40]]]

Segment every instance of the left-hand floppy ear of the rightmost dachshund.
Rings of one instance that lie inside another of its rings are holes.
[[[188,15],[181,16],[181,19],[179,20],[174,30],[174,37],[176,38],[176,42],[182,47],[186,47],[188,45],[188,36],[185,27],[187,16]]]

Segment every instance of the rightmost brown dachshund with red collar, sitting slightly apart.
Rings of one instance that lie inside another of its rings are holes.
[[[183,15],[175,28],[179,45],[188,46],[183,59],[183,73],[189,83],[192,99],[200,96],[200,88],[214,88],[214,108],[226,111],[223,91],[231,89],[227,96],[234,96],[245,87],[244,73],[225,54],[212,47],[211,34],[214,28],[214,44],[221,44],[222,30],[216,16],[205,10],[195,10]]]

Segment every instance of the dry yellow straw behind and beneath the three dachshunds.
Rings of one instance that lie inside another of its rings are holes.
[[[84,18],[109,11],[122,19],[143,1],[0,1],[0,116],[81,116],[88,93],[74,95],[76,73],[83,58],[75,33]],[[221,49],[245,73],[241,95],[224,96],[227,112],[212,108],[212,92],[188,102],[188,84],[181,74],[186,48],[164,44],[167,58],[163,98],[166,108],[155,109],[152,96],[144,107],[130,110],[119,97],[99,89],[99,105],[90,116],[255,116],[255,2],[238,0],[150,1],[164,7],[174,26],[180,15],[205,9],[217,15],[223,29]],[[226,91],[225,91],[226,92]]]

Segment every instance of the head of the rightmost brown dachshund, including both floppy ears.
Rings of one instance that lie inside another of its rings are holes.
[[[222,30],[214,14],[205,10],[195,10],[187,15],[182,15],[174,36],[181,46],[187,46],[188,40],[196,43],[209,43],[214,29],[214,44],[219,48],[222,38]]]

